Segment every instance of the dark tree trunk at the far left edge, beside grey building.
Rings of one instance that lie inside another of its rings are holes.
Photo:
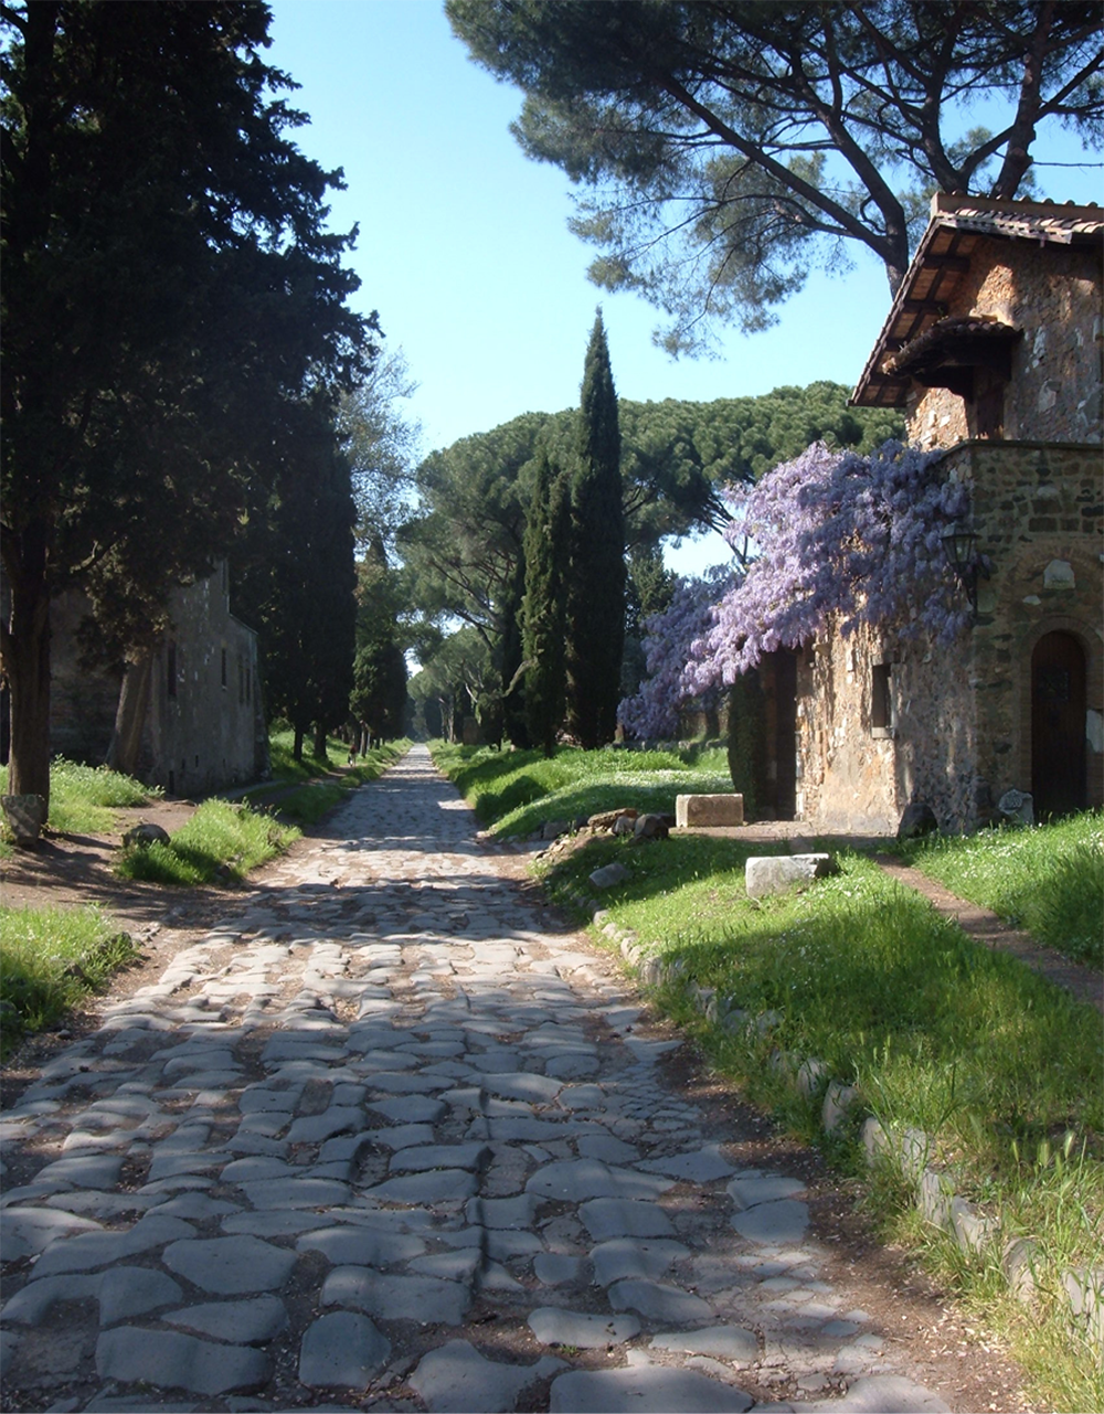
[[[45,556],[42,556],[42,570]],[[13,575],[4,670],[11,693],[8,795],[49,805],[49,590],[45,573]]]

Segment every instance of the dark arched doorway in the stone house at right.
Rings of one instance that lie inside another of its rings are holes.
[[[1030,789],[1035,816],[1086,807],[1084,649],[1073,633],[1045,633],[1030,659]]]

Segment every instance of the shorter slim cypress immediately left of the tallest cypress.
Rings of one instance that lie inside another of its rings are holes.
[[[533,501],[524,533],[526,594],[523,605],[524,713],[530,741],[546,756],[556,752],[556,734],[567,701],[567,578],[571,560],[571,486],[568,477],[537,447]]]

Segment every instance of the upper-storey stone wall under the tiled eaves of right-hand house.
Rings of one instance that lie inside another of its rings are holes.
[[[949,315],[988,314],[1022,329],[1005,392],[1008,440],[1101,440],[1101,263],[1094,249],[988,239],[970,257]],[[947,389],[913,385],[909,441],[951,447],[974,434]]]

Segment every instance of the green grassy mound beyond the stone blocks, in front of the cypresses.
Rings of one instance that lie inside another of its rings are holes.
[[[526,836],[546,820],[577,820],[635,806],[674,813],[677,795],[731,792],[724,751],[496,751],[433,742],[434,764],[462,792],[483,824]]]

